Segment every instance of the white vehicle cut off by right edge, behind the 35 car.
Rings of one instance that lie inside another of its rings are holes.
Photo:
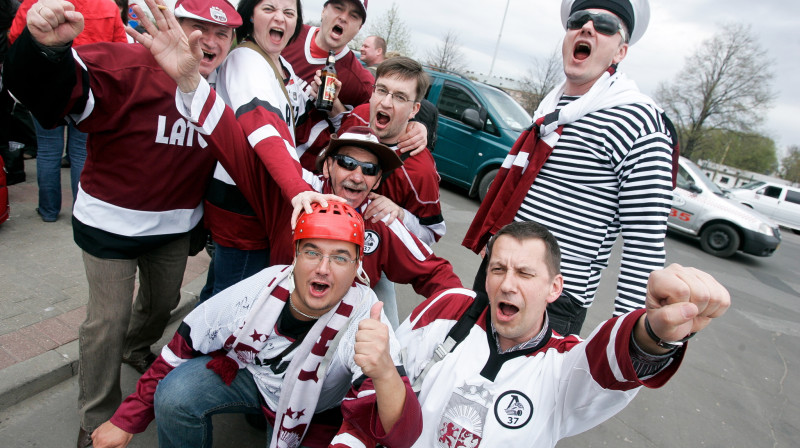
[[[730,195],[800,234],[800,188],[757,181],[732,189]]]

